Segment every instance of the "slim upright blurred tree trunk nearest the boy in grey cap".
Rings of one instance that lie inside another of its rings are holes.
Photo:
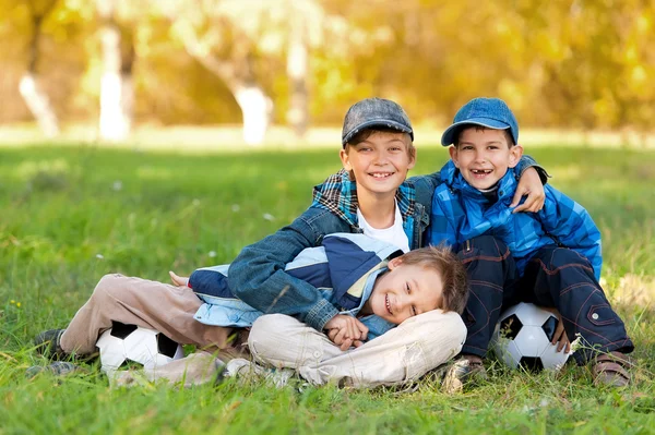
[[[287,74],[290,86],[289,111],[287,122],[296,137],[301,138],[309,124],[307,92],[307,33],[302,16],[295,12],[291,17],[291,34],[287,55]]]

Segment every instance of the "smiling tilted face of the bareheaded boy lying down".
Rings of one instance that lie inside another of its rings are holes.
[[[376,314],[393,324],[436,310],[443,300],[441,275],[421,265],[404,265],[402,257],[389,262],[389,271],[379,277],[362,313]]]

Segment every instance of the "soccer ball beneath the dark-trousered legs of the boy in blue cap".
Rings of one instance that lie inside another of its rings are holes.
[[[511,368],[560,370],[570,353],[558,352],[550,340],[558,318],[532,303],[521,302],[505,310],[493,333],[491,349]]]

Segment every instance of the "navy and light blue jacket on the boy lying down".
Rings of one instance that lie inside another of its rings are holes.
[[[389,259],[402,255],[396,246],[364,234],[325,235],[321,246],[305,249],[285,271],[321,292],[341,314],[356,316],[371,295],[376,279],[388,270]],[[234,295],[227,282],[228,265],[195,270],[189,287],[204,302],[195,319],[207,325],[249,327],[264,313]],[[284,289],[282,290],[284,292]],[[275,311],[271,306],[270,311]],[[377,315],[360,321],[373,339],[395,325]]]

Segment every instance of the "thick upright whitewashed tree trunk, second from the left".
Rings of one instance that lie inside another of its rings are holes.
[[[134,89],[132,85],[133,49],[123,64],[121,29],[115,21],[115,0],[97,0],[103,21],[103,77],[100,80],[100,137],[105,141],[124,141],[132,126]]]

